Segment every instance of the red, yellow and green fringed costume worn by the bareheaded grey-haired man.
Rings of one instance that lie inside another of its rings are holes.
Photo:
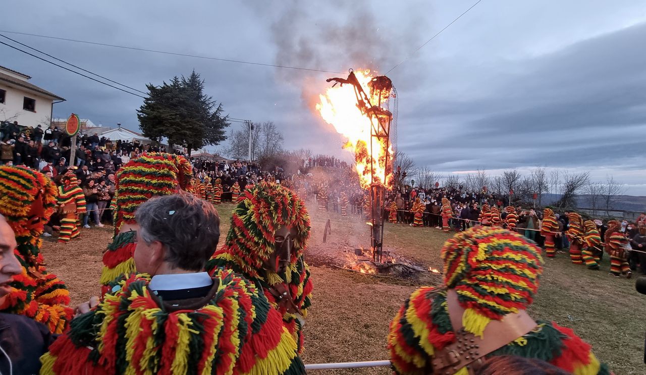
[[[280,314],[249,281],[213,275],[202,306],[182,308],[131,275],[41,357],[41,374],[304,374]]]

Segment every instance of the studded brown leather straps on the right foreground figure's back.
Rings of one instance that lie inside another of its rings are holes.
[[[446,291],[448,314],[455,332],[455,342],[442,350],[435,350],[431,361],[433,374],[454,374],[466,367],[474,374],[484,363],[484,357],[504,347],[518,337],[522,337],[536,327],[536,321],[525,310],[507,314],[501,320],[492,320],[483,332],[483,337],[466,332],[462,325],[464,308],[457,301],[457,292]]]

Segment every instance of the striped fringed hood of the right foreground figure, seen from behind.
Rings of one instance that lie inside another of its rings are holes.
[[[464,319],[479,319],[483,329],[490,319],[531,305],[543,272],[536,244],[501,228],[458,233],[444,243],[441,256],[444,283],[459,295]]]

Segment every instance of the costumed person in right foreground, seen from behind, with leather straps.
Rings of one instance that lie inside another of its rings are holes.
[[[503,228],[477,226],[444,243],[444,286],[415,290],[390,323],[397,374],[474,374],[483,361],[513,355],[568,373],[609,374],[570,328],[535,321],[543,272],[534,242]]]

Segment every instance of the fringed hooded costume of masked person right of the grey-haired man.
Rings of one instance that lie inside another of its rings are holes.
[[[295,338],[300,352],[302,327],[311,305],[309,296],[313,288],[309,268],[303,259],[310,230],[305,203],[291,190],[264,182],[243,191],[232,214],[224,246],[208,262],[207,270],[231,269],[255,283],[282,314],[284,325]],[[275,251],[274,236],[279,226],[296,231],[289,266],[280,274],[263,267],[263,262]],[[285,290],[287,297],[280,298],[277,290]]]

